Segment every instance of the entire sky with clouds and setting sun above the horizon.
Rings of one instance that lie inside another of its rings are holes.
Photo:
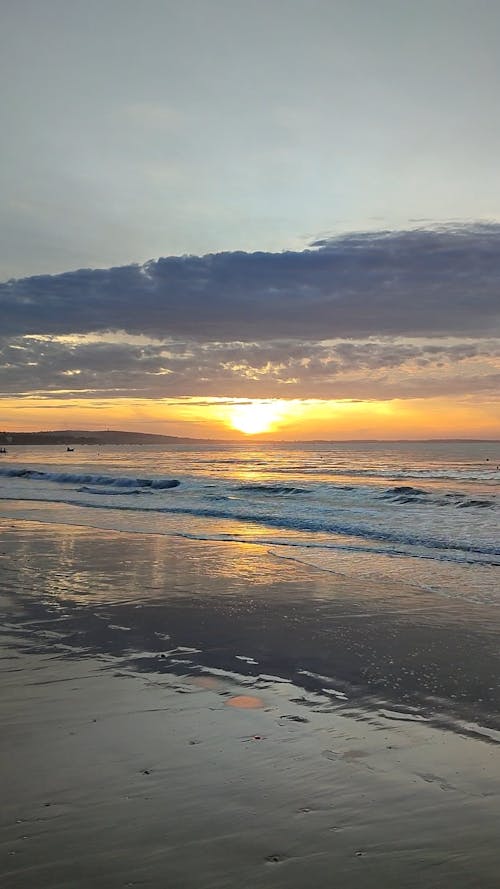
[[[4,0],[0,428],[500,438],[494,0]]]

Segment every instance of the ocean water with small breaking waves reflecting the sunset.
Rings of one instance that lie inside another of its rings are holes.
[[[500,442],[11,446],[0,515],[264,546],[500,604]]]

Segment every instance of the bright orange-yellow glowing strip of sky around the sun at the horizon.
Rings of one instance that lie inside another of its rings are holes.
[[[1,429],[121,429],[187,438],[243,440],[500,439],[500,402],[464,397],[319,399],[2,399]]]

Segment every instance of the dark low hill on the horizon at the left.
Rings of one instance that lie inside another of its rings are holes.
[[[58,429],[54,432],[0,432],[0,445],[103,445],[103,444],[189,444],[208,441],[201,438],[180,438],[156,435],[153,432],[120,432],[114,429],[88,431]]]

